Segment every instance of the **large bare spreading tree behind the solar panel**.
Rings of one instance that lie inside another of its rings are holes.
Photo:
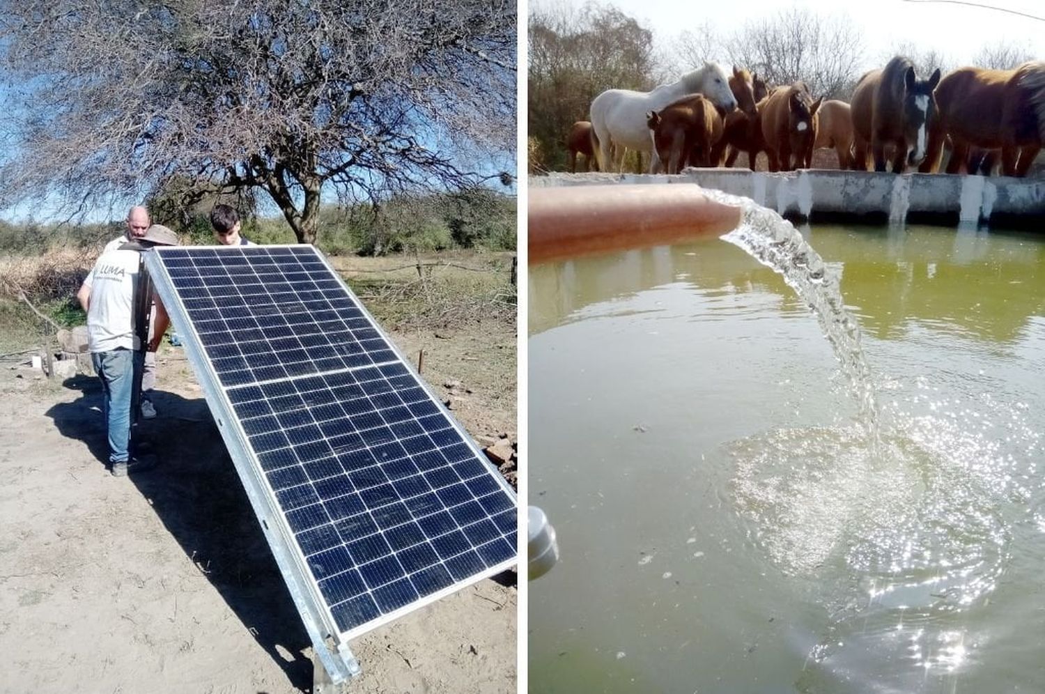
[[[302,242],[321,193],[510,181],[514,0],[0,0],[9,201],[86,209],[178,177],[263,190]]]

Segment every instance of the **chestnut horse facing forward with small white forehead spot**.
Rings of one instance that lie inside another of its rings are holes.
[[[816,140],[814,116],[822,100],[821,96],[814,101],[802,82],[780,87],[766,97],[759,120],[770,171],[810,167]]]

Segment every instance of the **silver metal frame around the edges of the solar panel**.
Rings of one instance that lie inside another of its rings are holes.
[[[303,247],[300,245],[273,245],[258,248],[272,250],[279,248],[301,249]],[[312,642],[314,652],[319,656],[319,660],[323,663],[326,671],[329,673],[334,684],[344,681],[361,672],[359,664],[355,660],[355,656],[352,654],[348,645],[350,639],[392,622],[399,617],[413,611],[414,609],[418,609],[424,605],[451,595],[452,593],[475,583],[483,578],[506,571],[517,563],[518,555],[516,538],[516,547],[514,548],[515,554],[513,554],[509,559],[506,559],[482,572],[472,574],[462,581],[451,583],[450,585],[440,588],[434,593],[420,597],[412,603],[384,614],[379,618],[367,622],[358,627],[348,631],[341,631],[327,607],[326,601],[319,593],[318,582],[308,570],[306,558],[300,551],[300,548],[295,540],[294,532],[280,510],[278,502],[272,492],[271,485],[264,478],[264,471],[260,468],[256,456],[252,454],[252,447],[248,443],[247,433],[239,422],[239,419],[236,417],[235,412],[232,409],[231,401],[225,394],[225,389],[220,385],[217,372],[206,355],[203,343],[195,330],[195,326],[189,320],[187,307],[178,295],[172,278],[168,274],[166,267],[162,263],[162,260],[158,255],[163,254],[167,250],[173,249],[180,251],[186,250],[178,247],[156,247],[144,253],[143,255],[145,256],[146,271],[156,286],[157,293],[163,301],[164,307],[167,309],[167,314],[170,316],[173,327],[177,329],[179,336],[183,338],[186,356],[195,372],[196,379],[200,381],[204,396],[210,407],[211,414],[214,417],[214,421],[217,423],[218,431],[222,434],[222,438],[225,441],[229,455],[232,458],[237,473],[239,475],[243,489],[247,491],[247,496],[251,502],[251,506],[253,507],[254,512],[264,531],[265,537],[269,540],[269,546],[271,547],[273,555],[276,558],[276,563],[279,566],[280,573],[283,575],[283,580],[291,592],[291,597],[294,600],[295,606],[301,615],[302,622],[305,625],[305,630],[308,632],[309,639]],[[231,249],[242,250],[243,247],[192,247],[192,250],[216,250],[218,252]],[[356,297],[351,288],[349,288],[348,284],[345,283],[341,275],[333,270],[327,258],[316,249],[312,249],[312,252],[315,253],[315,257],[323,262],[324,267],[330,273],[330,276],[338,280],[341,287],[359,308],[363,316],[369,321],[370,325],[376,329],[379,337],[389,345],[389,348],[399,362],[405,366],[408,372],[424,390],[428,398],[439,408],[440,412],[445,415],[447,421],[461,436],[462,441],[472,450],[475,457],[490,469],[492,477],[512,501],[513,506],[515,507],[517,522],[518,501],[515,491],[501,476],[496,468],[489,463],[471,436],[468,435],[461,423],[458,422],[457,419],[446,410],[442,401],[436,396],[424,379],[420,377],[420,374],[414,369],[410,362],[403,358],[403,355],[399,351],[396,344],[389,339],[389,336],[380,327],[377,321],[374,320],[373,316],[369,310],[367,310],[366,306],[363,305],[358,297]],[[293,381],[295,378],[296,377],[291,377],[286,380]]]

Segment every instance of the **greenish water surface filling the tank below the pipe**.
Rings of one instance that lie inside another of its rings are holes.
[[[718,239],[530,270],[533,692],[1045,691],[1045,240],[816,227],[884,448]]]

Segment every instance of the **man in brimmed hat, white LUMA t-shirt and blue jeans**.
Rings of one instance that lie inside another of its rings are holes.
[[[84,285],[76,293],[87,311],[87,339],[94,370],[104,393],[106,427],[109,434],[109,462],[112,473],[122,477],[134,466],[131,442],[131,402],[135,370],[142,365],[138,336],[135,334],[134,296],[138,282],[140,253],[154,246],[177,246],[178,235],[166,227],[153,225],[140,237],[126,240],[102,253]],[[169,319],[159,297],[154,295],[155,329],[149,331],[147,349],[155,352]]]

